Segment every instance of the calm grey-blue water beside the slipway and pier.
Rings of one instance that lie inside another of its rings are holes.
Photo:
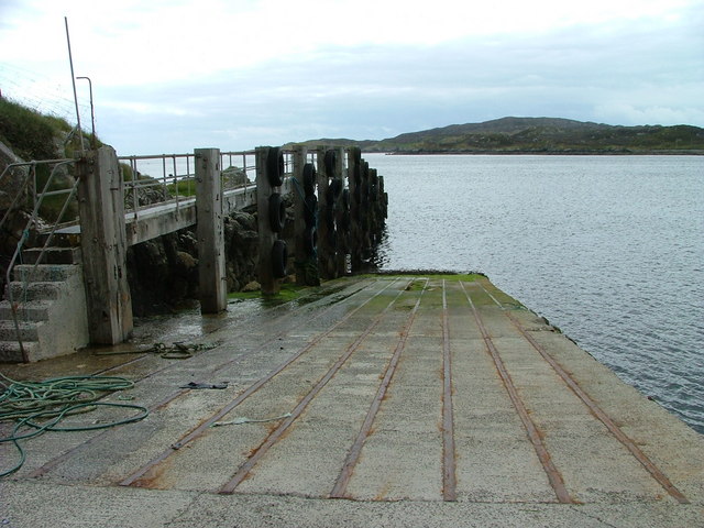
[[[365,160],[383,268],[487,274],[704,433],[704,157]]]

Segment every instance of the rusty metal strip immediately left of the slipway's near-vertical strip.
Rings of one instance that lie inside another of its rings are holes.
[[[374,418],[376,418],[376,414],[378,413],[382,402],[386,396],[386,391],[388,389],[388,385],[391,384],[392,378],[394,377],[394,373],[396,372],[396,366],[398,365],[398,360],[400,358],[400,354],[406,348],[406,341],[408,339],[408,333],[410,332],[410,327],[416,319],[416,314],[418,311],[418,307],[420,306],[420,300],[422,299],[422,294],[426,292],[427,286],[428,286],[428,279],[426,279],[424,284],[424,288],[420,293],[420,296],[418,296],[418,300],[416,301],[416,305],[414,306],[408,317],[408,320],[406,321],[406,324],[400,331],[400,338],[398,340],[398,344],[396,345],[396,349],[394,350],[394,355],[392,356],[392,360],[389,361],[386,367],[386,372],[384,373],[384,378],[382,380],[378,391],[376,392],[376,396],[372,402],[372,406],[370,407],[370,410],[367,411],[366,417],[364,418],[364,424],[362,425],[362,429],[360,430],[360,433],[354,440],[352,448],[350,448],[348,458],[345,459],[344,464],[342,466],[342,472],[340,473],[340,476],[338,477],[334,484],[334,487],[330,493],[331,498],[344,498],[346,496],[348,483],[350,482],[350,477],[352,476],[354,466],[356,465],[356,462],[360,459],[360,455],[362,454],[362,448],[364,447],[364,442],[366,441],[366,438],[370,436],[370,432],[372,431],[372,425],[374,424]]]

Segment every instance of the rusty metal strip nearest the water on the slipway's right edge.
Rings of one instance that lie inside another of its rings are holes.
[[[550,354],[544,350],[538,341],[534,339],[530,333],[520,324],[520,322],[514,317],[505,307],[494,297],[486,288],[481,285],[482,289],[492,298],[492,300],[502,309],[504,315],[512,321],[514,327],[520,332],[520,334],[536,349],[536,351],[546,360],[546,362],[558,373],[558,375],[564,381],[568,387],[586,405],[590,411],[598,418],[604,426],[610,431],[620,443],[623,443],[628,451],[640,462],[644,468],[658,481],[658,483],[680,504],[689,504],[690,502],[673,484],[670,479],[636,446],[628,436],[614,422],[614,420],[604,413],[598,405],[580,387],[580,385],[570,376],[570,374],[560,366],[560,364],[552,359]]]

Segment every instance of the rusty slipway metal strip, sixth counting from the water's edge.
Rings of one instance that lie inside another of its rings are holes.
[[[224,417],[228,413],[230,413],[232,409],[234,409],[237,406],[239,406],[242,402],[244,402],[249,396],[251,396],[252,394],[254,394],[256,391],[258,391],[266,382],[268,382],[270,380],[272,380],[274,376],[276,376],[277,374],[279,374],[284,369],[286,369],[288,365],[290,365],[293,362],[295,362],[296,360],[298,360],[302,354],[305,354],[306,352],[308,352],[310,349],[312,349],[318,342],[320,342],[322,339],[324,339],[327,336],[329,336],[330,333],[332,333],[337,328],[339,328],[341,324],[343,324],[346,320],[349,320],[353,315],[355,315],[359,310],[361,310],[367,302],[370,302],[372,299],[376,298],[378,295],[381,295],[383,292],[385,292],[388,287],[391,287],[393,284],[395,283],[395,280],[389,282],[386,286],[384,286],[382,289],[380,289],[376,294],[374,294],[374,296],[372,296],[371,298],[366,299],[365,301],[363,301],[362,304],[360,304],[355,309],[351,310],[350,312],[348,312],[343,318],[341,318],[334,326],[332,326],[331,328],[329,328],[326,332],[319,334],[318,337],[316,337],[314,340],[311,340],[308,344],[306,344],[305,346],[302,346],[298,352],[296,352],[292,358],[289,358],[287,361],[285,361],[284,363],[282,363],[278,367],[276,367],[274,371],[272,371],[268,375],[264,376],[263,378],[261,378],[260,381],[257,381],[256,383],[254,383],[253,385],[251,385],[244,393],[242,393],[238,398],[235,398],[233,402],[231,402],[230,404],[228,404],[226,407],[223,407],[222,409],[220,409],[219,411],[217,411],[216,414],[213,414],[212,416],[210,416],[208,419],[206,419],[205,421],[202,421],[198,427],[196,427],[194,430],[189,431],[188,433],[186,433],[185,436],[183,436],[179,440],[177,440],[176,442],[174,442],[168,449],[166,449],[165,451],[163,451],[161,454],[158,454],[157,457],[153,458],[152,460],[150,460],[146,464],[144,464],[143,466],[141,466],[139,470],[136,470],[135,472],[133,472],[132,474],[130,474],[128,477],[125,477],[124,480],[122,480],[120,482],[121,486],[131,486],[131,485],[136,485],[139,486],[140,483],[140,479],[142,479],[150,470],[152,470],[153,468],[155,468],[157,464],[162,463],[164,460],[166,460],[168,457],[170,457],[176,450],[183,448],[184,446],[186,446],[187,443],[191,442],[193,440],[197,439],[198,437],[200,437],[205,431],[208,430],[209,427],[212,426],[212,424],[215,424],[216,421],[220,420],[222,417]],[[319,316],[318,316],[319,317]],[[267,342],[274,341],[275,339],[277,339],[277,337],[272,338],[270,340],[267,340]],[[229,364],[229,363],[228,363]]]

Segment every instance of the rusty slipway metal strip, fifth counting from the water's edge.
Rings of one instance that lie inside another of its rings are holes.
[[[340,367],[352,356],[352,354],[360,348],[362,342],[366,339],[366,337],[372,333],[372,331],[378,326],[384,316],[391,310],[394,302],[398,300],[400,295],[404,293],[404,289],[400,289],[398,294],[386,305],[386,307],[374,318],[374,320],[366,327],[366,329],[359,336],[354,342],[346,348],[344,353],[338,359],[338,361],[328,370],[324,376],[322,376],[315,387],[298,403],[296,408],[290,413],[290,416],[286,418],[278,428],[272,432],[264,443],[256,449],[256,452],[249,458],[249,460],[240,466],[238,472],[232,476],[232,479],[224,484],[220,492],[221,494],[231,494],[234,490],[240,485],[240,483],[246,477],[252,468],[256,465],[260,459],[268,451],[268,449],[278,441],[279,438],[286,432],[286,430],[290,427],[290,425],[306,410],[308,404],[315,398],[318,393],[324,387],[332,376],[337,374]],[[419,299],[420,300],[420,299]],[[417,306],[417,305],[416,305]],[[415,310],[414,310],[415,314]],[[410,316],[409,316],[410,317]]]

